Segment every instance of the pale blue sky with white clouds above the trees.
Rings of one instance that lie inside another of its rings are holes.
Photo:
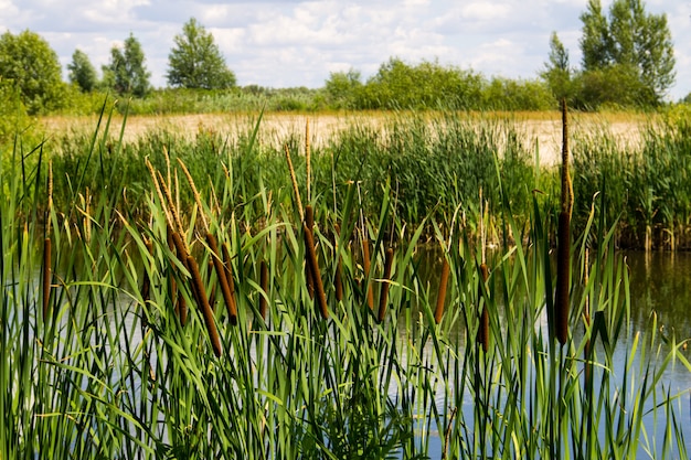
[[[587,0],[0,0],[0,33],[31,30],[63,68],[76,49],[97,69],[130,33],[141,43],[153,86],[166,86],[173,38],[190,18],[211,32],[237,84],[323,86],[332,72],[363,81],[391,57],[423,60],[486,76],[535,78],[557,32],[580,66]],[[612,0],[602,0],[608,10]],[[668,98],[691,93],[691,0],[647,0],[666,13],[677,83]],[[66,69],[65,76],[66,76]]]

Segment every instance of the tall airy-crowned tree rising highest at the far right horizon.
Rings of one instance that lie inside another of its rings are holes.
[[[667,17],[647,13],[642,0],[615,0],[607,20],[599,0],[589,0],[581,20],[584,73],[617,67],[615,74],[636,83],[625,89],[628,97],[635,89],[638,104],[659,104],[676,76]]]

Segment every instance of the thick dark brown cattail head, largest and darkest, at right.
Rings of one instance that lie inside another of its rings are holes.
[[[571,277],[571,216],[559,214],[556,248],[556,295],[554,300],[554,334],[563,345],[568,339],[568,285]]]

